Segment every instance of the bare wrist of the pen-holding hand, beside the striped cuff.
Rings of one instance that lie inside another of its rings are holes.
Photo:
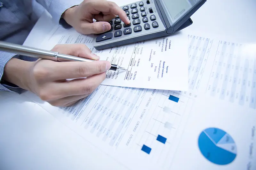
[[[28,77],[32,63],[34,62],[12,58],[4,67],[3,80],[29,90]]]

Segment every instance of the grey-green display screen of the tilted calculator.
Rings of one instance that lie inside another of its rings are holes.
[[[171,26],[187,14],[200,0],[162,0]]]

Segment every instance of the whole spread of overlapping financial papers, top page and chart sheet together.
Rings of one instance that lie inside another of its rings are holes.
[[[101,60],[128,68],[109,71],[70,107],[25,93],[128,169],[256,168],[255,47],[175,35],[97,51],[92,37],[61,27],[45,41],[45,49],[85,43]]]

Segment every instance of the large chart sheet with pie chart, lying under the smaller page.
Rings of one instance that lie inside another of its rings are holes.
[[[100,85],[70,107],[25,95],[127,169],[256,169],[255,46],[187,42],[188,91]]]

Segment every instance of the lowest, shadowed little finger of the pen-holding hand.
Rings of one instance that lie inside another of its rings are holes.
[[[78,100],[83,99],[89,95],[90,94],[68,96],[59,100],[48,101],[48,103],[56,107],[66,107],[75,104]]]

